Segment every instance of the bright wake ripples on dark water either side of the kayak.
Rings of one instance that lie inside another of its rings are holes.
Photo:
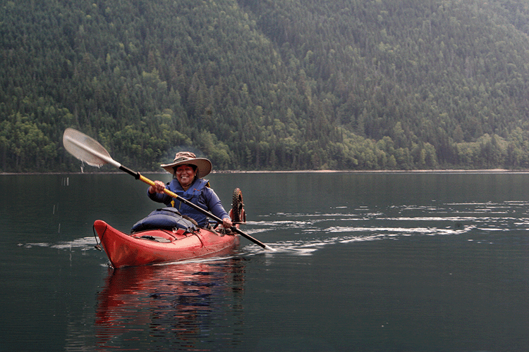
[[[444,203],[428,206],[413,204],[389,206],[387,209],[367,207],[333,208],[321,213],[275,213],[248,221],[242,230],[276,249],[276,253],[309,256],[324,246],[351,244],[359,241],[399,240],[413,236],[457,236],[463,234],[502,233],[524,230],[529,225],[525,216],[529,203]],[[523,215],[523,216],[520,216]],[[297,234],[296,239],[279,239],[281,233]],[[268,240],[268,241],[267,241]],[[65,251],[93,250],[94,237],[82,237],[58,243],[30,242],[25,248],[50,247]],[[254,244],[245,244],[241,255],[262,253]]]

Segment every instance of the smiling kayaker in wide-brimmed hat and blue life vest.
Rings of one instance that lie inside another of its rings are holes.
[[[208,180],[202,178],[211,172],[211,161],[206,158],[197,158],[194,153],[189,151],[181,151],[176,153],[173,163],[162,164],[161,166],[171,172],[174,178],[166,185],[162,181],[154,181],[154,186],[149,187],[148,190],[150,199],[178,209],[182,215],[193,218],[200,227],[208,226],[209,219],[207,215],[165,194],[164,189],[167,188],[178,194],[178,196],[221,218],[222,226],[226,229],[231,229],[233,223],[226,210],[224,210],[219,196],[215,194],[213,189],[209,188]]]

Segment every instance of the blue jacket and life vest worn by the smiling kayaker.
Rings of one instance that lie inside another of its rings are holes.
[[[208,182],[208,180],[197,178],[187,191],[183,191],[183,188],[178,180],[174,178],[171,182],[166,184],[165,188],[178,194],[178,196],[181,196],[183,199],[187,199],[191,203],[200,206],[200,208],[213,213],[213,215],[216,215],[221,219],[229,218],[228,213],[226,213],[226,210],[224,210],[222,206],[219,196],[217,196],[213,189],[209,188]],[[188,215],[190,218],[196,220],[198,226],[200,227],[206,227],[209,222],[207,215],[200,213],[198,210],[191,208],[181,201],[173,199],[167,194],[150,194],[148,190],[147,194],[153,201],[177,208],[182,215]]]

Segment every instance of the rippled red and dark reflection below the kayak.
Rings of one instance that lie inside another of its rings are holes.
[[[211,347],[213,329],[237,344],[243,282],[241,258],[114,270],[97,297],[98,349]]]

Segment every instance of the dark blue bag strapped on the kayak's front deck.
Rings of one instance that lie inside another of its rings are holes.
[[[196,222],[188,218],[176,210],[176,208],[161,208],[154,210],[142,220],[136,222],[130,230],[130,233],[140,232],[145,230],[173,230],[183,229],[188,232],[197,231]]]

